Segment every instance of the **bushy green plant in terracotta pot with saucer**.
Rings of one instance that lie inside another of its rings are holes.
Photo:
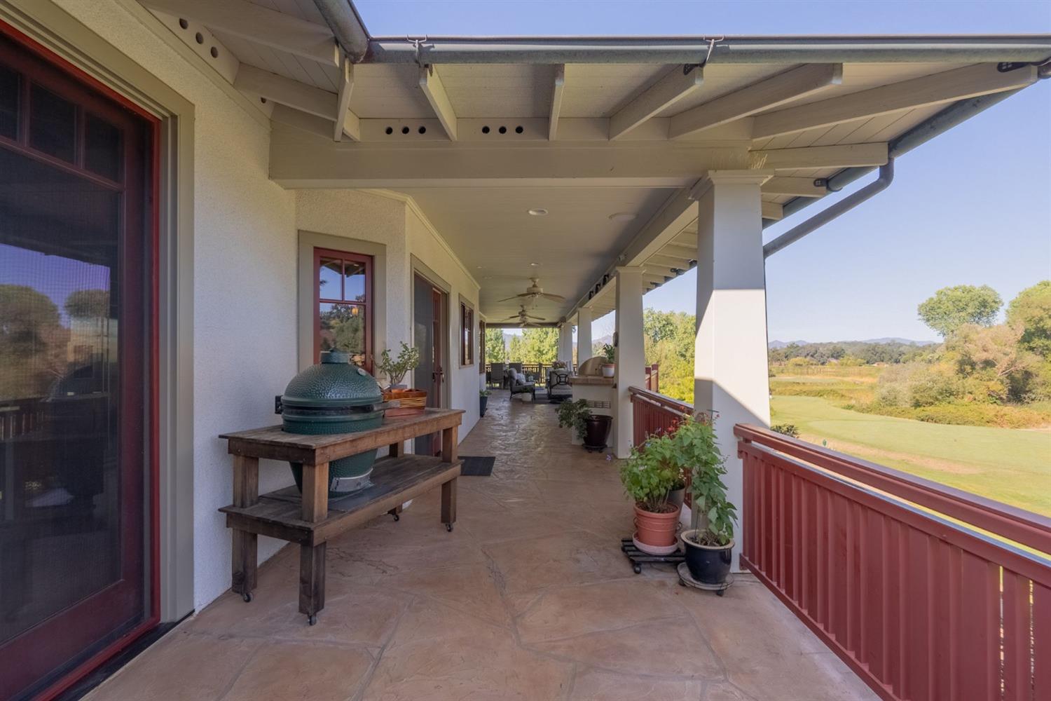
[[[635,502],[635,544],[651,555],[668,555],[676,550],[679,508],[669,500],[682,479],[679,447],[672,436],[651,436],[620,468],[620,481]]]

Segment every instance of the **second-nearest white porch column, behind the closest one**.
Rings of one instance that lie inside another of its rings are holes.
[[[617,406],[614,433],[617,457],[632,449],[632,401],[627,388],[645,387],[645,352],[642,342],[642,273],[638,267],[617,268]]]

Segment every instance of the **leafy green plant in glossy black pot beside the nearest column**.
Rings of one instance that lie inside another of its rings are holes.
[[[714,419],[687,418],[673,436],[676,452],[689,471],[694,497],[691,530],[682,533],[686,566],[704,584],[723,584],[729,574],[737,509],[726,499],[725,461],[716,442]]]

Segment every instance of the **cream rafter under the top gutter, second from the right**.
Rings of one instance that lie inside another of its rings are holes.
[[[674,116],[667,137],[678,139],[709,129],[842,82],[842,63],[815,63],[792,68]]]

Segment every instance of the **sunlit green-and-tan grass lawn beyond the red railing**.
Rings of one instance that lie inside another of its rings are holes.
[[[815,396],[774,396],[774,424],[843,453],[1051,516],[1051,432],[862,414]]]

